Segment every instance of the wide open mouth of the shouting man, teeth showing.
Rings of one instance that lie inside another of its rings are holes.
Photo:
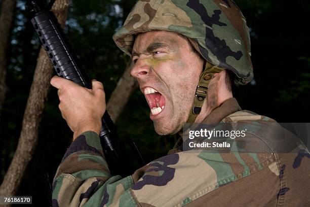
[[[160,114],[164,110],[166,105],[165,97],[160,92],[151,87],[144,88],[143,92],[147,100],[148,106],[151,110],[151,114]]]

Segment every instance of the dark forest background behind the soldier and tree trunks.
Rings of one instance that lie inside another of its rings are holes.
[[[0,183],[14,155],[40,43],[27,20],[24,0],[17,1],[7,54],[8,92],[0,116]],[[113,43],[112,34],[130,12],[133,0],[73,0],[65,33],[90,78],[103,82],[107,100],[122,76],[128,57]],[[254,80],[237,87],[243,109],[278,122],[309,122],[310,54],[306,32],[307,0],[236,0],[250,27]],[[1,1],[0,1],[1,3]],[[33,159],[25,171],[18,195],[32,196],[33,205],[48,206],[43,175],[50,180],[69,146],[72,133],[58,110],[52,88]],[[139,146],[146,161],[165,155],[175,136],[159,136],[148,118],[144,96],[136,90],[116,125],[121,140]]]

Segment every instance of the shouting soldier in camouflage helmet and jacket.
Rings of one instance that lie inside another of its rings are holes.
[[[246,20],[232,1],[140,0],[113,39],[135,63],[131,75],[150,107],[158,134],[185,122],[259,123],[274,120],[242,111],[231,85],[253,78]],[[109,174],[99,140],[103,86],[82,88],[54,77],[59,108],[74,132],[53,183],[53,206],[306,206],[310,155],[281,154],[263,131],[247,139],[264,153],[182,151],[121,178]]]

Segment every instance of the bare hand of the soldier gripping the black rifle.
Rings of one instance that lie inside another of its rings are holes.
[[[84,88],[65,78],[54,76],[51,85],[58,89],[59,109],[70,129],[73,140],[84,131],[99,134],[105,112],[105,93],[99,81],[92,81],[92,89]]]

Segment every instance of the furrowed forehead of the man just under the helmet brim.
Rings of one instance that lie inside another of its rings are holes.
[[[175,32],[163,30],[147,31],[136,36],[133,52],[142,52],[152,43],[163,43],[167,47],[182,47],[187,44],[187,41]]]

